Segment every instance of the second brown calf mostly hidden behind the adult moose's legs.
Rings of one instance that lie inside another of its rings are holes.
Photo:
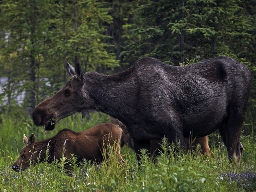
[[[134,150],[134,142],[132,136],[128,133],[126,126],[120,122],[118,119],[115,119],[113,117],[109,117],[110,122],[118,125],[123,130],[120,147],[123,147],[124,145],[128,146],[129,148]],[[196,146],[197,144],[200,145],[201,153],[205,154],[206,156],[210,156],[210,147],[208,145],[208,136],[195,138],[192,142],[190,139],[184,138],[187,147]],[[158,151],[161,150],[161,146],[159,145],[162,143],[162,140],[150,140],[150,154],[152,155],[158,155]],[[214,153],[211,152],[211,156],[214,156]]]

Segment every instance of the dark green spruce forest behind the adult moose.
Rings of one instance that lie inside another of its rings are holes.
[[[243,128],[251,134],[255,23],[256,0],[0,0],[1,118],[27,119],[56,93],[69,79],[64,59],[111,74],[144,56],[183,66],[225,55],[254,77]]]

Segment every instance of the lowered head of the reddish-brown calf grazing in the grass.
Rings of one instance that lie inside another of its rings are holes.
[[[35,135],[32,133],[28,138],[23,135],[25,147],[21,149],[19,158],[14,162],[12,168],[16,172],[25,170],[30,164],[35,164],[38,161],[39,152],[34,150]]]

